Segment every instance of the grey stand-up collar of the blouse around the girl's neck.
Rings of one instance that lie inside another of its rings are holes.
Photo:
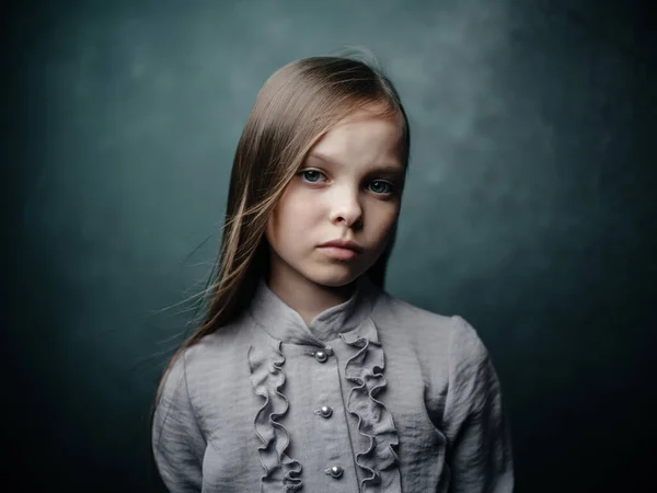
[[[318,313],[307,324],[301,314],[286,305],[261,277],[249,312],[274,339],[323,346],[324,342],[360,325],[370,316],[379,291],[380,288],[364,274],[356,280],[356,288],[348,300]]]

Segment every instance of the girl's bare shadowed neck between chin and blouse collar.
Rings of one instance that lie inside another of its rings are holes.
[[[354,294],[356,282],[332,287],[313,283],[300,275],[280,276],[270,273],[267,285],[283,302],[297,311],[310,325],[319,313],[347,301]]]

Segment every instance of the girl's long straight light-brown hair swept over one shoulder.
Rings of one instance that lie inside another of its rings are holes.
[[[235,150],[221,248],[205,290],[209,302],[204,319],[169,360],[157,395],[170,368],[186,348],[235,320],[249,306],[258,277],[269,268],[269,244],[264,231],[273,208],[314,144],[365,106],[377,111],[373,116],[402,122],[400,152],[407,170],[408,119],[382,70],[346,57],[311,57],[284,66],[265,82]],[[367,271],[381,288],[395,237],[396,226],[385,251]],[[151,427],[155,405],[151,410]]]

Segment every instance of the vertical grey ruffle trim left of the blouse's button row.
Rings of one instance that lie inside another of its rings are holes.
[[[249,348],[251,385],[257,395],[264,399],[254,420],[255,434],[263,445],[258,447],[261,463],[265,470],[262,477],[262,492],[293,492],[303,486],[299,478],[301,465],[288,457],[286,449],[290,439],[285,427],[276,420],[287,413],[288,400],[279,389],[285,383],[283,364],[285,356],[280,341],[274,346],[265,345]],[[283,488],[283,489],[281,489]]]

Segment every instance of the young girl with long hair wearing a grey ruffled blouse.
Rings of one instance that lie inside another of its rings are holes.
[[[500,386],[475,330],[383,288],[408,164],[390,80],[276,71],[234,157],[211,302],[152,422],[171,492],[510,492]]]

